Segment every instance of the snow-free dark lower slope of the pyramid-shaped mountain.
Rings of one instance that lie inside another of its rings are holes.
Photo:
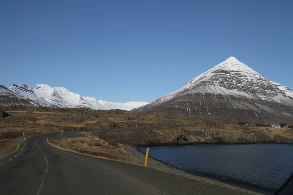
[[[188,94],[155,107],[146,106],[143,112],[179,116],[225,116],[235,121],[248,122],[287,122],[293,120],[293,117],[290,116],[293,116],[292,107],[276,102],[220,94]]]

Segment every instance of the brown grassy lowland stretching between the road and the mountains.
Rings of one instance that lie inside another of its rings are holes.
[[[126,154],[121,144],[151,144],[172,142],[182,133],[186,133],[181,126],[187,125],[199,129],[212,129],[217,131],[233,132],[238,134],[248,134],[250,131],[263,130],[262,134],[274,137],[293,138],[293,133],[286,131],[287,128],[272,129],[265,127],[242,128],[236,125],[236,122],[223,117],[213,116],[169,116],[157,114],[134,114],[121,110],[101,111],[89,109],[52,109],[35,108],[31,109],[10,109],[6,110],[9,117],[0,118],[0,158],[7,156],[15,151],[15,145],[21,143],[22,132],[26,136],[50,133],[72,131],[72,130],[95,130],[114,128],[115,131],[99,135],[93,134],[93,137],[83,139],[63,140],[64,146],[72,147],[74,151],[94,156],[106,156],[110,159],[125,161],[123,156]],[[163,125],[167,123],[180,124]],[[143,127],[162,124],[161,127]],[[119,128],[142,127],[132,130],[120,130]],[[96,137],[94,137],[96,136]],[[189,135],[192,138],[192,135]],[[102,144],[100,139],[105,140],[109,145]],[[145,139],[145,137],[147,139]],[[197,136],[199,142],[207,141],[209,136]],[[130,142],[129,142],[130,140]],[[163,140],[163,141],[162,141]],[[113,145],[115,141],[118,145]],[[100,144],[100,145],[99,145]],[[102,151],[102,153],[100,152]],[[116,152],[115,152],[116,151]],[[101,153],[101,154],[99,154]],[[128,159],[128,157],[127,157]],[[130,160],[131,161],[131,160]],[[132,162],[132,161],[131,161]]]

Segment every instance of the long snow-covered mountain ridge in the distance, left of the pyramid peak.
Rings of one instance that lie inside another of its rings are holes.
[[[13,101],[10,101],[14,99]],[[64,87],[50,87],[45,84],[37,84],[35,88],[28,88],[26,84],[13,84],[7,88],[0,85],[0,105],[34,105],[44,107],[88,107],[92,109],[122,109],[131,110],[147,102],[117,103],[105,100],[97,101],[92,97],[82,97],[79,94],[68,91]]]

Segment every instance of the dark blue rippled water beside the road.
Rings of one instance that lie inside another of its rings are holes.
[[[146,147],[138,148],[146,152]],[[293,145],[185,145],[150,147],[149,156],[193,173],[279,189],[293,174]]]

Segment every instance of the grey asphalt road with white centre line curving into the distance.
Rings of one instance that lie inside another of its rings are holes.
[[[44,134],[0,160],[1,195],[246,195],[142,166],[62,151]],[[77,132],[63,136],[78,137]]]

